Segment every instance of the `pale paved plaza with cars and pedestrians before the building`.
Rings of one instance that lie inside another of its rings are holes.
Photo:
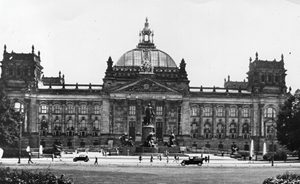
[[[169,162],[167,162],[167,157],[162,157],[161,160],[154,155],[153,162],[150,162],[150,156],[142,156],[142,161],[139,163],[139,156],[103,156],[98,152],[88,153],[89,161],[77,161],[74,162],[73,158],[78,154],[63,154],[62,158],[32,158],[32,161],[36,165],[44,164],[70,164],[70,165],[93,165],[95,157],[98,158],[98,165],[109,166],[180,166],[180,162],[184,159],[188,159],[188,156],[201,156],[200,154],[187,154],[185,156],[179,156],[179,161],[174,160],[174,156],[169,156]],[[249,161],[249,160],[238,160],[227,156],[215,156],[213,154],[204,154],[203,156],[209,156],[209,162],[204,162],[202,167],[271,167],[271,162],[269,161]],[[18,164],[18,158],[2,158],[0,160],[1,165],[28,165],[28,158],[22,158],[21,164]],[[186,166],[191,167],[191,166]],[[274,161],[274,167],[299,167],[300,162],[298,160],[287,160],[284,161]]]

